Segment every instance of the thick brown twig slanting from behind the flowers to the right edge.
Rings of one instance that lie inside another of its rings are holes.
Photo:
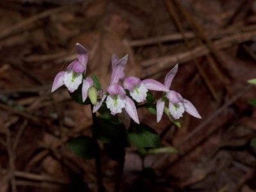
[[[242,42],[251,40],[252,38],[255,38],[255,36],[256,31],[244,32],[241,34],[227,36],[225,38],[222,38],[221,40],[216,40],[214,42],[214,45],[216,49],[225,49],[231,47],[234,44],[240,44]],[[210,49],[205,45],[199,45],[195,47],[192,52],[193,55],[198,58],[200,56],[205,56],[206,54],[208,54],[210,52]],[[142,78],[152,76],[154,74],[157,74],[158,72],[161,72],[162,70],[173,67],[176,63],[185,63],[189,60],[191,60],[191,52],[186,51],[170,56],[142,61],[141,65],[143,67],[147,67],[143,70],[143,74],[145,74],[145,76],[143,76]]]

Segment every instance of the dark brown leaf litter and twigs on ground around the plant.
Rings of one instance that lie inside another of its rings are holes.
[[[106,89],[111,55],[129,54],[127,76],[163,83],[180,63],[172,90],[191,100],[202,119],[185,114],[182,128],[140,109],[163,146],[179,155],[147,156],[140,175],[127,149],[123,191],[256,191],[256,1],[13,0],[0,2],[0,191],[96,191],[94,161],[67,141],[90,135],[89,106],[66,88],[51,93],[54,77],[88,49],[88,71]],[[161,95],[156,95],[160,97]],[[102,150],[106,191],[116,162]],[[141,178],[143,177],[143,178]],[[11,188],[11,186],[14,186]]]

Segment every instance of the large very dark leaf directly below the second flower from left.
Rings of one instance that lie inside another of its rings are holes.
[[[127,130],[122,122],[115,122],[103,116],[98,116],[97,122],[97,125],[92,127],[97,139],[109,144],[115,143],[122,147],[130,147]]]

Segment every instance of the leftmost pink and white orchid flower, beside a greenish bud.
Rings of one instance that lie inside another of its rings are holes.
[[[81,44],[77,43],[76,52],[78,54],[78,60],[72,61],[72,63],[68,65],[67,70],[61,71],[56,75],[52,84],[52,92],[65,84],[68,91],[72,93],[77,90],[79,85],[83,82],[82,96],[84,101],[88,96],[88,89],[90,86],[93,86],[93,80],[91,77],[83,79],[88,61],[87,50]]]

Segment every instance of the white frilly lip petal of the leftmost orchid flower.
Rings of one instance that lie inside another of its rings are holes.
[[[70,93],[77,90],[79,84],[82,83],[83,75],[81,73],[75,73],[73,70],[68,70],[65,72],[63,77],[63,82],[67,86]]]

